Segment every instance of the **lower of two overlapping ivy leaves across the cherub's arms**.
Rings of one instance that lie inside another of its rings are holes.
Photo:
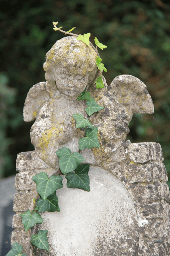
[[[94,127],[93,130],[86,128],[86,137],[79,139],[79,149],[91,149],[91,148],[100,148],[98,140],[98,128]]]

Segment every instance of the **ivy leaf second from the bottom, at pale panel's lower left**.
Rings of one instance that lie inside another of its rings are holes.
[[[35,245],[39,249],[43,249],[49,252],[47,232],[48,230],[40,230],[38,234],[32,235],[31,243],[32,245]]]

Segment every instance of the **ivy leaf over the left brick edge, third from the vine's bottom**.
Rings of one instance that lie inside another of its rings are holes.
[[[20,214],[19,216],[22,217],[22,223],[25,228],[25,231],[28,231],[31,227],[35,225],[35,223],[43,223],[43,218],[41,218],[41,215],[39,213],[36,213],[34,211],[31,211],[28,209],[25,213]]]

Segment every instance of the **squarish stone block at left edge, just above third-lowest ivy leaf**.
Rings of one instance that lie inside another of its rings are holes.
[[[38,199],[39,195],[36,190],[19,191],[14,197],[14,208],[16,212],[26,212],[28,209],[34,210],[36,203],[33,198]]]

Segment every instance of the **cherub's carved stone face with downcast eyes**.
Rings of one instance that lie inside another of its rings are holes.
[[[87,86],[88,73],[82,74],[79,70],[61,69],[54,73],[57,89],[67,97],[77,99]]]

